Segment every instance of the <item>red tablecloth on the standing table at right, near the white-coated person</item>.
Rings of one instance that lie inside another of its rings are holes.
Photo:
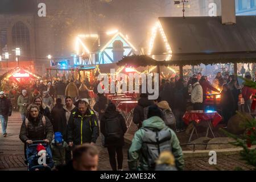
[[[216,111],[213,111],[211,113],[206,113],[204,111],[187,111],[185,112],[183,116],[183,121],[188,125],[190,122],[195,121],[197,123],[200,123],[201,121],[212,121],[213,127],[216,127],[218,123],[222,120],[222,117],[220,114],[218,114]]]

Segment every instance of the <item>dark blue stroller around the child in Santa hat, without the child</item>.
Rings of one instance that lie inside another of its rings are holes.
[[[47,166],[38,163],[38,159],[40,158],[40,156],[38,156],[38,151],[36,150],[38,144],[42,144],[42,146],[46,148]],[[54,166],[51,148],[48,143],[44,142],[44,140],[35,140],[32,144],[27,144],[26,155],[28,171],[51,171],[51,168]]]

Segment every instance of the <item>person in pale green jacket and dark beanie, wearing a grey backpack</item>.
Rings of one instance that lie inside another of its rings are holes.
[[[143,121],[133,138],[128,153],[130,170],[150,171],[155,169],[156,160],[162,151],[171,151],[178,170],[184,167],[179,139],[173,130],[164,124],[158,106],[148,108],[148,119]],[[137,164],[139,163],[139,164]]]

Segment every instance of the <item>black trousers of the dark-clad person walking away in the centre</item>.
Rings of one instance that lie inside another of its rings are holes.
[[[123,146],[109,146],[109,162],[110,166],[113,171],[117,171],[117,164],[118,169],[123,168]],[[117,154],[117,161],[115,159],[115,154]]]

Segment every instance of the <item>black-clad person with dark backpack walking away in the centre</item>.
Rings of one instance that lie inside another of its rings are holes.
[[[114,104],[110,103],[105,111],[105,114],[100,121],[101,133],[105,137],[105,146],[108,147],[109,162],[113,171],[122,171],[123,164],[123,145],[125,140],[123,135],[127,131],[125,119],[117,111]],[[115,160],[115,154],[117,154],[117,163]]]

